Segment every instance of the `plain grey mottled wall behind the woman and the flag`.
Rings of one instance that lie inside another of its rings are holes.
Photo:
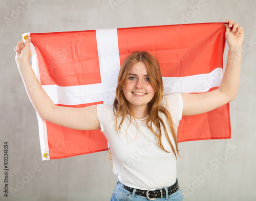
[[[240,89],[230,103],[232,138],[181,143],[178,178],[185,200],[256,199],[256,1],[1,0],[0,5],[0,200],[109,200],[117,181],[104,152],[40,160],[36,114],[14,60],[13,48],[22,33],[205,23],[226,18],[239,21],[245,31]],[[196,5],[200,9],[194,10]],[[226,57],[227,51],[224,62]],[[3,192],[6,141],[8,197]],[[229,146],[232,152],[226,152]]]

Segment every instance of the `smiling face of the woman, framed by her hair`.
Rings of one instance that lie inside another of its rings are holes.
[[[143,107],[145,109],[148,102],[153,99],[155,90],[148,77],[144,62],[133,64],[127,83],[123,88],[123,94],[134,110],[136,108],[143,109]]]

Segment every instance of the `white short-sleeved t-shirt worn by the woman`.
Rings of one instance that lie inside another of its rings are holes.
[[[167,104],[167,109],[173,118],[177,132],[183,109],[181,94],[164,95],[162,104]],[[111,148],[113,172],[118,176],[121,183],[132,188],[146,190],[168,187],[176,182],[175,154],[173,152],[167,153],[158,146],[157,137],[154,136],[145,123],[147,117],[140,120],[132,118],[130,124],[130,116],[127,115],[121,126],[121,133],[117,134],[116,116],[112,105],[97,105],[97,115],[101,131]],[[169,138],[175,147],[167,118],[165,115],[161,117],[165,122]],[[120,119],[118,119],[117,126],[119,122]],[[156,129],[154,130],[156,131]],[[161,132],[164,148],[172,151],[163,128],[161,128]]]

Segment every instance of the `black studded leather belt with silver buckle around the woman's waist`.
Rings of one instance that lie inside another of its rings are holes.
[[[133,192],[134,188],[125,186],[121,182],[120,182],[120,185],[127,191]],[[176,180],[176,183],[173,186],[168,187],[167,190],[168,190],[168,195],[177,192],[179,190],[178,180]],[[148,200],[153,200],[153,199],[164,197],[166,195],[166,192],[165,192],[164,188],[158,189],[158,190],[156,190],[156,189],[148,189],[148,190],[136,189],[135,194],[146,197]]]

